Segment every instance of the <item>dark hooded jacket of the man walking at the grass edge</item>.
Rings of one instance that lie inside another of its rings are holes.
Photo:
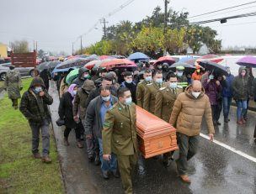
[[[45,92],[43,97],[39,94],[35,94],[33,87],[40,85]],[[24,114],[25,118],[29,120],[29,123],[40,124],[43,119],[47,119],[51,122],[51,113],[47,105],[51,105],[53,102],[52,97],[45,90],[44,81],[40,77],[35,77],[30,84],[28,91],[24,92],[21,97],[19,110]]]

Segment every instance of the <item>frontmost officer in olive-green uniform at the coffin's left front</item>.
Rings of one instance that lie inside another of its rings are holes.
[[[111,153],[117,155],[125,193],[132,193],[131,170],[138,159],[138,144],[136,106],[128,88],[119,89],[118,102],[106,113],[102,137],[104,160],[110,160]]]

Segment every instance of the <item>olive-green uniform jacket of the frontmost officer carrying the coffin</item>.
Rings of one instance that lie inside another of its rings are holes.
[[[127,111],[124,107],[117,102],[105,115],[102,130],[104,155],[135,155],[138,152],[136,105],[132,103]]]

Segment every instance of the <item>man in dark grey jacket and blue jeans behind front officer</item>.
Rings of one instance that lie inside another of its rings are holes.
[[[117,97],[110,94],[109,87],[99,87],[100,96],[95,97],[88,105],[84,126],[87,136],[94,136],[99,142],[99,157],[101,161],[101,170],[104,179],[109,179],[109,171],[117,175],[117,161],[115,155],[111,155],[110,163],[103,160],[102,149],[102,128],[104,124],[105,113],[117,102]]]

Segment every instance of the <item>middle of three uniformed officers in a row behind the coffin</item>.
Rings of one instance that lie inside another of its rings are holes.
[[[155,71],[152,83],[146,85],[143,99],[143,108],[152,114],[155,113],[156,95],[161,87],[166,87],[162,71]]]

